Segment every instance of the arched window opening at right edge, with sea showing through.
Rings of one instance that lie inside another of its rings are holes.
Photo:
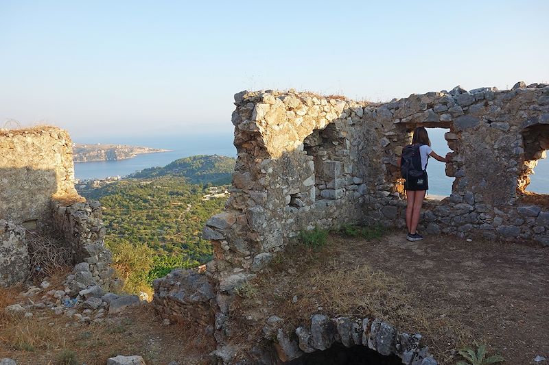
[[[526,197],[549,197],[549,125],[536,124],[523,129],[524,162],[517,191]]]

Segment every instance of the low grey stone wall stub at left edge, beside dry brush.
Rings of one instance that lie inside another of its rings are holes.
[[[0,219],[0,288],[23,281],[29,272],[25,228]]]

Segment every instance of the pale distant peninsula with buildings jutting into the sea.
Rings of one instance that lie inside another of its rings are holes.
[[[126,144],[73,144],[74,162],[116,161],[135,158],[141,153],[169,152],[169,149],[128,146]]]

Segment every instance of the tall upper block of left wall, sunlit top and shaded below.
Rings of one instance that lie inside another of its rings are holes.
[[[57,127],[0,130],[0,219],[51,229],[51,198],[75,196],[72,142]]]

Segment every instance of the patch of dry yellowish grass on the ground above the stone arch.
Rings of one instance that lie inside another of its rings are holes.
[[[262,308],[268,306],[272,312],[262,314],[262,320],[277,315],[284,319],[288,333],[310,323],[314,313],[332,318],[380,318],[401,331],[428,334],[428,345],[435,347],[441,358],[449,358],[453,349],[468,343],[471,334],[461,323],[419,307],[401,278],[356,260],[360,253],[350,248],[358,240],[346,238],[344,247],[341,241],[334,244],[334,236],[330,236],[331,243],[320,252],[290,245],[268,270],[250,282],[257,294],[239,298],[232,316],[261,317]],[[296,303],[292,302],[294,296]],[[246,325],[242,320],[234,325],[233,344],[241,349],[252,347],[253,340],[262,336],[261,326]]]

